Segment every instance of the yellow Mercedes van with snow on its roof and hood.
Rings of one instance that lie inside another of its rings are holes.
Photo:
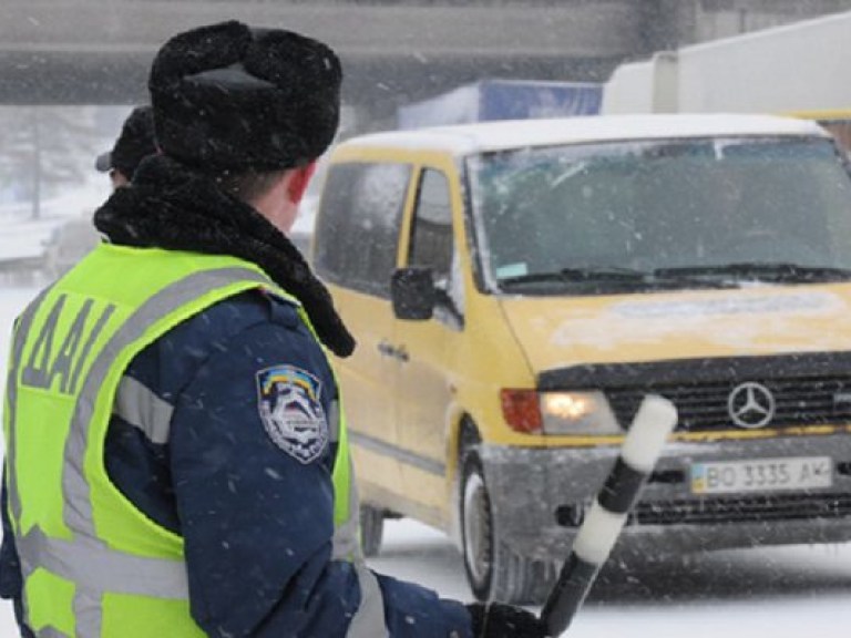
[[[352,138],[314,263],[363,500],[540,601],[640,399],[679,422],[621,544],[851,539],[851,178],[802,120],[612,115]]]

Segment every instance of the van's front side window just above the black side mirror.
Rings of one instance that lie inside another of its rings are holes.
[[[461,311],[463,299],[458,288],[461,278],[455,274],[455,259],[449,181],[443,173],[426,168],[417,193],[408,265],[431,268],[438,288],[449,296],[454,309]]]

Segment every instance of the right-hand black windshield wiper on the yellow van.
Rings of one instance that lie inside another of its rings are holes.
[[[851,279],[851,269],[833,266],[802,266],[786,261],[738,261],[717,266],[658,268],[654,275],[658,277],[735,277],[760,281],[844,281]]]

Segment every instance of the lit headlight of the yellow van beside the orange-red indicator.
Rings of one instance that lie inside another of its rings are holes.
[[[603,392],[541,392],[544,434],[622,434]]]

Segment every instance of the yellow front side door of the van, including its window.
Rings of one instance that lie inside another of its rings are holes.
[[[452,357],[461,337],[463,301],[453,234],[452,197],[447,174],[423,168],[409,224],[402,266],[428,266],[445,291],[428,321],[396,321],[397,420],[402,450],[401,473],[418,516],[433,525],[448,523],[447,415],[453,401]]]

